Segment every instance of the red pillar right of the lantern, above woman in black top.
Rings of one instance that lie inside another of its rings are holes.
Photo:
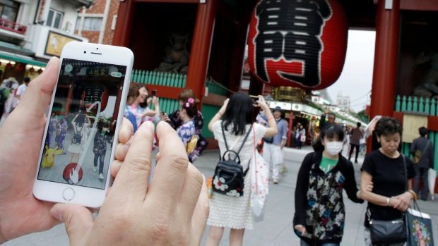
[[[394,111],[400,0],[392,1],[392,9],[385,9],[385,0],[379,0],[377,4],[376,47],[374,51],[370,119],[378,115],[392,116]],[[368,151],[371,150],[371,142],[368,141]]]

